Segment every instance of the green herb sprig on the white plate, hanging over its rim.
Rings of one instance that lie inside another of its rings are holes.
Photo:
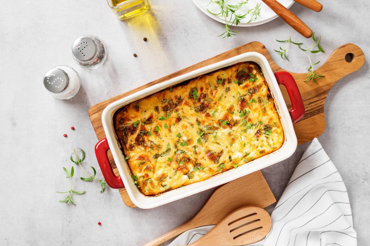
[[[245,4],[248,3],[249,0],[240,0],[240,2],[238,2],[235,5],[228,4],[227,3],[228,1],[229,0],[216,0],[216,1],[211,0],[207,4],[207,6],[211,3],[217,4],[220,7],[219,13],[213,13],[209,11],[208,8],[207,8],[207,11],[213,15],[221,15],[221,17],[223,17],[223,19],[225,20],[225,25],[223,26],[223,28],[225,28],[225,32],[218,35],[217,37],[223,36],[222,38],[225,38],[225,37],[231,37],[232,35],[236,35],[236,33],[239,31],[231,30],[229,28],[231,25],[233,25],[234,23],[235,25],[238,25],[240,23],[240,20],[244,19],[248,14],[250,14],[251,17],[247,23],[249,23],[252,20],[256,20],[259,17],[259,14],[261,11],[261,3],[257,3],[254,8],[249,9],[245,6]],[[241,7],[244,7],[246,9],[245,14],[236,13],[236,11],[238,11]]]

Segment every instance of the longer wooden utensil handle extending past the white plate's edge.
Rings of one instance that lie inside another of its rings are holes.
[[[312,30],[293,14],[290,10],[284,7],[276,0],[262,0],[269,8],[271,8],[277,15],[280,16],[287,24],[293,27],[297,32],[303,35],[305,38],[312,36]]]

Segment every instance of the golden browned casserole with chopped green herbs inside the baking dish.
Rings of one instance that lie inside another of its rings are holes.
[[[279,149],[284,133],[260,67],[244,62],[120,108],[114,127],[132,182],[157,195]]]

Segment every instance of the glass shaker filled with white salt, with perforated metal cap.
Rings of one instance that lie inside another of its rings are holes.
[[[53,97],[69,99],[80,89],[80,77],[68,66],[56,66],[44,75],[44,86]]]

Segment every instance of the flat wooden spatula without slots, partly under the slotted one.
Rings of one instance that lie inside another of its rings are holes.
[[[275,201],[276,199],[262,173],[256,171],[216,189],[193,218],[144,246],[160,245],[174,236],[199,226],[216,225],[226,215],[240,207],[252,205],[265,208]]]

